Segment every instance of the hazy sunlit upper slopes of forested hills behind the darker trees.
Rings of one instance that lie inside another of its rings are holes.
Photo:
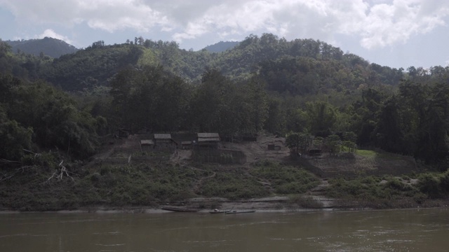
[[[192,83],[201,80],[206,68],[220,69],[225,76],[238,81],[261,72],[267,78],[270,90],[292,94],[314,94],[327,88],[341,91],[343,86],[351,86],[350,89],[354,90],[361,84],[397,85],[403,71],[370,64],[357,55],[343,53],[340,48],[321,41],[286,41],[273,34],[263,34],[261,37],[248,36],[234,48],[220,53],[181,50],[175,42],[151,41],[142,37],[121,45],[105,45],[103,41],[97,41],[84,50],[55,59],[48,65],[50,71],[41,72],[41,78],[65,90],[82,90],[93,85],[109,85],[110,78],[123,66],[140,68],[159,64],[166,71]],[[271,73],[279,69],[288,74],[282,74],[282,80],[275,80]]]

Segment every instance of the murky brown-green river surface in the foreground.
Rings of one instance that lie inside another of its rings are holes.
[[[449,251],[449,209],[0,214],[0,251]]]

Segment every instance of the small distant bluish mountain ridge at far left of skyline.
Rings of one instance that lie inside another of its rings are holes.
[[[11,48],[15,53],[20,51],[39,56],[41,52],[43,52],[44,55],[48,55],[53,58],[58,58],[61,55],[74,53],[79,50],[65,41],[49,37],[5,42],[11,45]]]

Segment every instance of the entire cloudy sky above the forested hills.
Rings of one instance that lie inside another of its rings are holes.
[[[449,65],[447,0],[0,0],[0,38],[86,48],[142,36],[201,50],[251,34],[312,38],[370,63]]]

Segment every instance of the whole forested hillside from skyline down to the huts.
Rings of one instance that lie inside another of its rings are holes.
[[[136,37],[58,59],[0,43],[0,74],[0,139],[16,145],[5,159],[55,147],[86,157],[122,127],[296,132],[445,168],[449,158],[449,67],[394,69],[312,39],[250,35],[212,53]]]

